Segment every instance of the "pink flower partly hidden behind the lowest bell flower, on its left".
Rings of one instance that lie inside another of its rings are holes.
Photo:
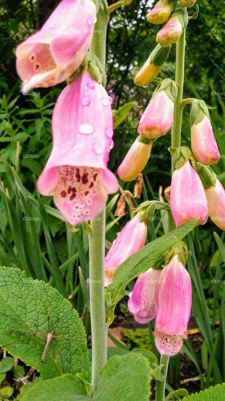
[[[128,309],[139,323],[150,322],[154,318],[155,288],[161,270],[150,267],[137,278],[133,291],[129,294]]]

